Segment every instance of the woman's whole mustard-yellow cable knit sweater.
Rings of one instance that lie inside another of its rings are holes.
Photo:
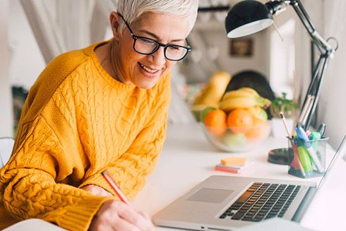
[[[0,172],[0,229],[42,218],[67,230],[88,230],[114,194],[108,170],[129,198],[153,172],[165,140],[170,75],[150,90],[125,85],[102,69],[97,45],[56,57],[30,89],[13,155]],[[115,196],[115,194],[114,194]]]

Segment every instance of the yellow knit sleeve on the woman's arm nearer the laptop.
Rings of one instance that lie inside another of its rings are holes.
[[[107,171],[119,185],[121,191],[128,199],[132,199],[145,185],[145,178],[151,174],[157,163],[157,159],[162,151],[162,146],[166,138],[167,114],[170,103],[170,83],[166,88],[161,89],[162,100],[153,107],[150,112],[154,112],[147,124],[138,134],[126,151],[117,162],[109,163]],[[114,196],[113,189],[103,179],[99,170],[93,176],[80,185],[94,184],[109,191]]]

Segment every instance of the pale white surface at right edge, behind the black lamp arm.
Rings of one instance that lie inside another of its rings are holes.
[[[318,123],[327,125],[329,143],[337,148],[346,134],[346,1],[325,0],[323,4],[323,37],[335,37],[339,49],[330,60],[324,77],[318,102]]]

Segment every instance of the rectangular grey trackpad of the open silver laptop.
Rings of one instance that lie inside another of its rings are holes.
[[[234,192],[234,190],[201,188],[189,196],[186,201],[222,203],[232,192]]]

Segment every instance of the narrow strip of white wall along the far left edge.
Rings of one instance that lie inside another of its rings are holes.
[[[11,86],[8,81],[8,0],[0,1],[0,136],[13,136]]]

